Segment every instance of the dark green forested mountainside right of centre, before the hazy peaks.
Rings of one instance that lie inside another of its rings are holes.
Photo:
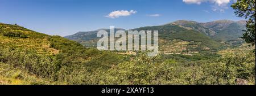
[[[159,42],[160,49],[167,51],[168,43],[174,40],[187,41],[187,47],[183,47],[183,51],[204,51],[220,49],[221,43],[212,40],[210,37],[197,32],[196,30],[188,30],[179,25],[167,24],[153,27],[141,27],[133,30],[158,30],[159,38],[163,42]],[[173,45],[173,44],[170,44]],[[165,46],[165,47],[163,47]],[[180,46],[180,45],[179,45]]]

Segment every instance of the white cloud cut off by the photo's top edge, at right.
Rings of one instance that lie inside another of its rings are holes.
[[[200,5],[203,2],[210,2],[215,3],[218,6],[225,6],[230,2],[230,0],[183,0],[183,2],[197,5]]]

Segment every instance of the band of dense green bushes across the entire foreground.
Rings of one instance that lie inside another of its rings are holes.
[[[90,51],[97,54],[96,50]],[[218,59],[199,60],[175,55],[148,58],[142,53],[125,61],[104,52],[86,62],[83,58],[89,52],[81,53],[47,56],[33,51],[0,51],[1,62],[10,68],[55,84],[236,84],[236,78],[255,84],[254,54],[226,54]]]

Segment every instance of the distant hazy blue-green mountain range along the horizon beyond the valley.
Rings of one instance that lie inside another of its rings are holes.
[[[217,20],[199,23],[189,20],[177,20],[158,26],[141,27],[130,30],[158,30],[160,50],[166,53],[182,53],[184,51],[216,50],[223,45],[241,45],[246,21]],[[98,29],[102,30],[102,29]],[[65,36],[86,47],[95,47],[98,30],[78,32]],[[109,32],[109,29],[103,29]],[[117,30],[125,30],[116,28]],[[172,51],[170,51],[172,50]]]

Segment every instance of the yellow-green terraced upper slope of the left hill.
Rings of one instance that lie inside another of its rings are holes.
[[[59,50],[49,47],[46,34],[34,32],[19,25],[0,23],[0,47],[10,49],[31,49],[42,54],[57,54]]]

